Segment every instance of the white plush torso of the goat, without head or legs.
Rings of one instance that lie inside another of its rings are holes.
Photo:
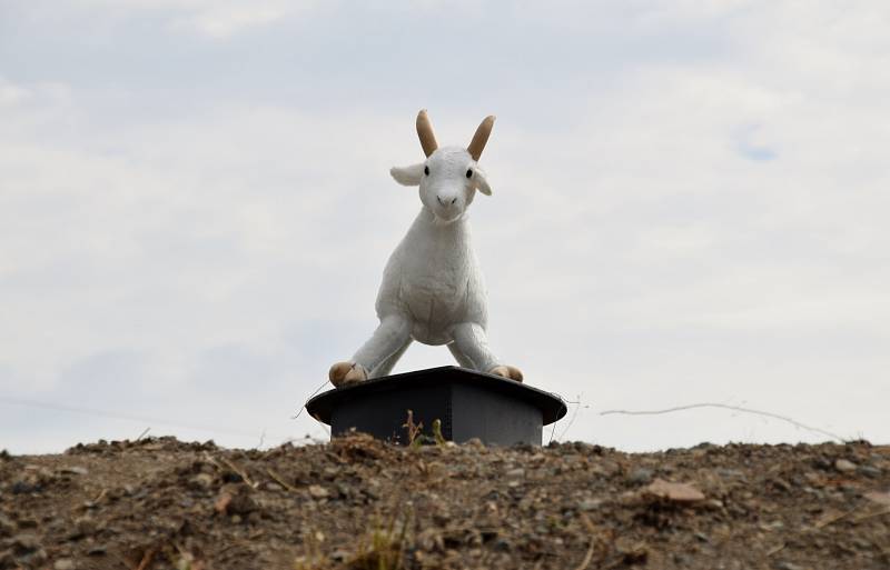
[[[421,210],[389,257],[376,308],[380,321],[407,319],[411,337],[424,344],[453,342],[454,326],[464,322],[485,330],[485,284],[466,217],[443,224]]]

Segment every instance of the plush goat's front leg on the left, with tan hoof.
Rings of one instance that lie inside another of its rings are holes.
[[[374,378],[374,372],[382,370],[380,364],[409,342],[411,321],[398,314],[384,317],[350,362],[337,362],[330,367],[330,383],[340,387]]]

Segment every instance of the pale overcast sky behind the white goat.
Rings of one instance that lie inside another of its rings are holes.
[[[881,0],[0,0],[0,448],[325,438],[291,417],[376,327],[421,108],[444,144],[497,114],[490,338],[581,402],[556,438],[827,438],[601,416],[715,402],[886,443],[888,29]]]

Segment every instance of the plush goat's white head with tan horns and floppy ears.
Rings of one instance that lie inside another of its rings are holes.
[[[409,167],[389,169],[396,182],[419,186],[421,201],[441,223],[459,220],[473,202],[476,190],[491,196],[492,189],[485,172],[478,167],[482,150],[488,141],[494,117],[482,121],[466,149],[461,147],[438,148],[426,110],[417,113],[417,136],[426,160]]]

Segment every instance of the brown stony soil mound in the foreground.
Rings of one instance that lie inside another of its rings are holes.
[[[887,570],[890,447],[3,453],[0,568]]]

